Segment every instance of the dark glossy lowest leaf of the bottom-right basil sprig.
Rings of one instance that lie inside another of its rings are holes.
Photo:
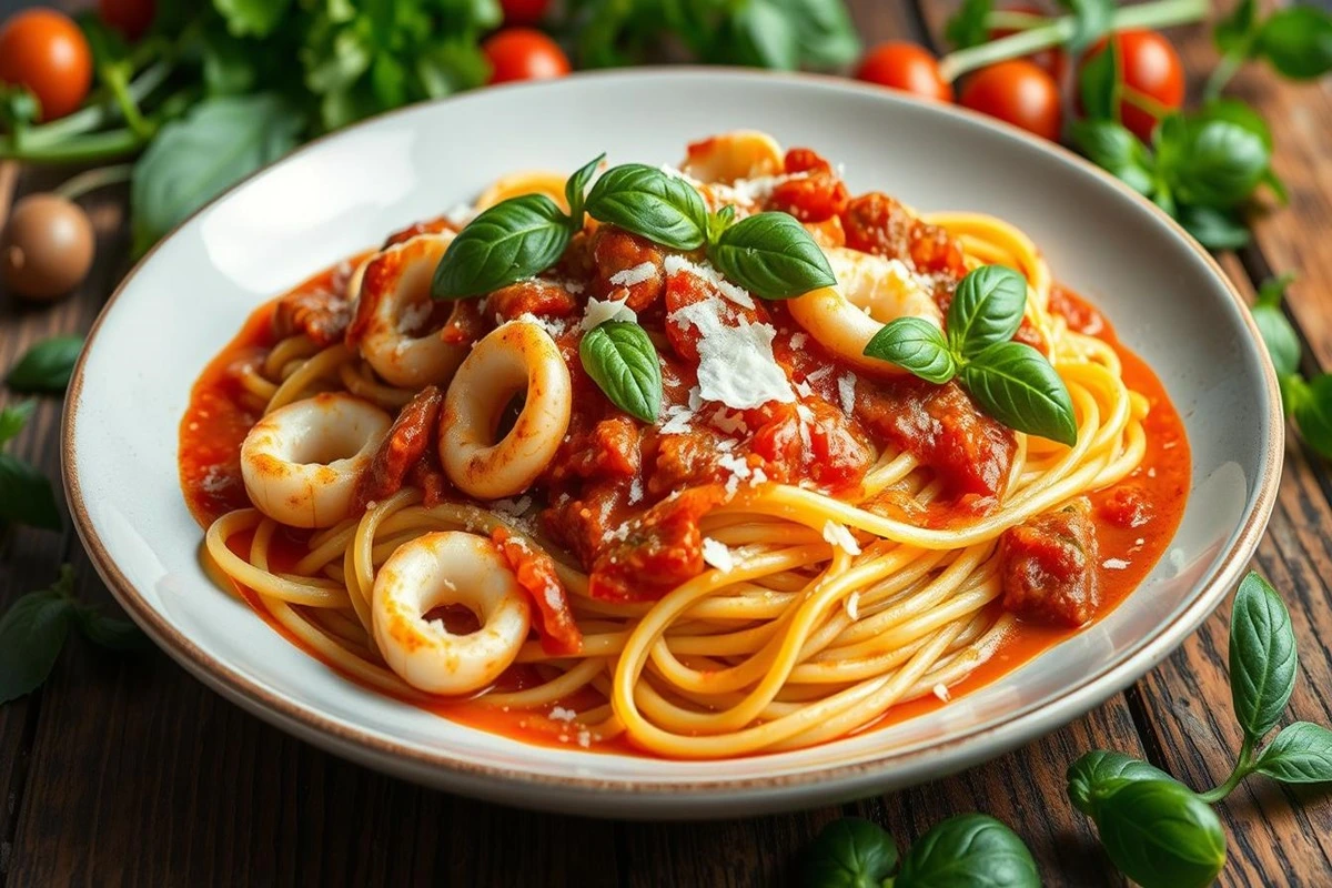
[[[1203,888],[1225,865],[1216,812],[1175,780],[1126,783],[1094,819],[1111,861],[1143,888]]]

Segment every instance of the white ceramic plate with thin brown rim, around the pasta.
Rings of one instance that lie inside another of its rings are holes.
[[[846,165],[852,190],[1027,230],[1100,306],[1184,417],[1192,493],[1167,558],[1119,608],[936,712],[813,750],[729,762],[550,750],[361,688],[208,579],[177,482],[177,425],[205,362],[264,300],[502,173],[674,162],[757,128]],[[1169,654],[1239,578],[1283,454],[1276,379],[1220,268],[1147,201],[1072,154],[955,108],[846,81],[635,71],[486,89],[322,138],[157,246],[97,321],[69,390],[64,474],[103,578],[185,668],[317,746],[457,792],[641,817],[798,808],[927,780],[1074,719]]]

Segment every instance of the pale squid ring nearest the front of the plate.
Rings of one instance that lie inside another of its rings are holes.
[[[436,607],[461,604],[481,628],[454,635]],[[425,534],[398,546],[374,578],[374,638],[404,682],[428,694],[474,694],[503,672],[527,638],[530,607],[490,541],[462,531]]]

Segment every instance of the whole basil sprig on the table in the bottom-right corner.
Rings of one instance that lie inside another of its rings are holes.
[[[1193,792],[1164,771],[1096,750],[1068,768],[1068,797],[1092,817],[1110,859],[1146,888],[1209,885],[1225,865],[1225,836],[1211,804],[1251,774],[1281,783],[1332,781],[1332,731],[1297,722],[1261,751],[1299,671],[1291,616],[1276,591],[1249,572],[1231,612],[1231,696],[1244,740],[1231,775]]]

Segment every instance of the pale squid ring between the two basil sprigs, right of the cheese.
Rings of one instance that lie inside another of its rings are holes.
[[[791,317],[819,345],[856,370],[875,375],[906,373],[887,361],[866,357],[864,346],[884,324],[900,317],[924,318],[943,329],[943,314],[934,297],[896,260],[844,248],[827,248],[823,253],[838,282],[790,300]]]

